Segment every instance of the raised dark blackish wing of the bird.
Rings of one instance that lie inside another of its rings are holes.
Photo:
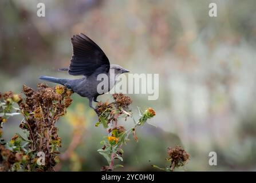
[[[103,50],[100,49],[86,35],[74,35],[71,38],[73,55],[70,60],[69,74],[89,76],[96,70],[109,71],[109,61]]]

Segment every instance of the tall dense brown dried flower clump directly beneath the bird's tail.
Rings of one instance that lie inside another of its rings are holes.
[[[45,166],[38,166],[37,170],[52,171],[58,163],[58,148],[61,147],[55,123],[72,103],[72,92],[64,86],[48,87],[40,83],[37,90],[24,85],[23,93],[26,99],[19,103],[19,108],[25,121],[19,126],[29,131],[29,149],[45,153]]]

